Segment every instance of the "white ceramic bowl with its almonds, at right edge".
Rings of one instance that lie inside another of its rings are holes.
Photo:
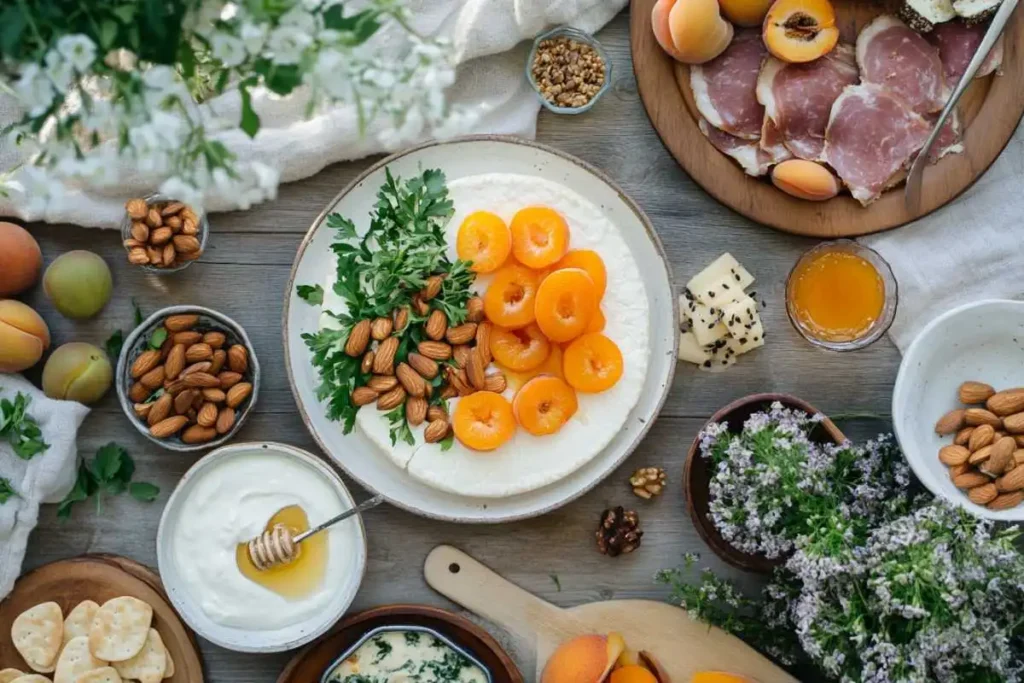
[[[1024,302],[971,303],[929,324],[900,365],[893,425],[933,494],[1024,520]]]

